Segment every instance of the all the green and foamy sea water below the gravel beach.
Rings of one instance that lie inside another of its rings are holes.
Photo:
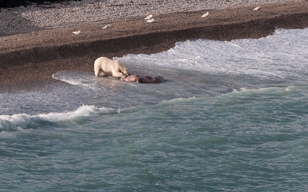
[[[114,59],[0,92],[0,191],[308,190],[308,29]]]

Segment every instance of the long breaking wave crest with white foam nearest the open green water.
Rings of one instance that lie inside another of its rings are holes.
[[[239,90],[234,89],[232,92],[221,94],[215,97],[190,97],[190,98],[176,98],[172,100],[164,100],[159,104],[155,105],[137,105],[124,109],[113,109],[113,108],[97,108],[93,105],[82,105],[75,111],[66,111],[62,113],[43,113],[39,115],[29,115],[29,114],[14,114],[14,115],[1,115],[0,116],[0,132],[1,131],[20,131],[22,129],[29,129],[39,127],[40,123],[46,122],[58,122],[58,121],[68,121],[73,122],[75,118],[83,116],[103,116],[103,115],[117,115],[117,114],[127,114],[138,111],[160,111],[164,107],[174,105],[233,105],[259,102],[271,102],[271,100],[276,100],[275,102],[280,102],[282,105],[285,100],[289,100],[290,103],[292,99],[295,98],[294,102],[299,97],[308,96],[308,86],[289,86],[284,88],[269,87],[260,89],[247,89],[241,88]],[[302,99],[300,99],[302,101]]]

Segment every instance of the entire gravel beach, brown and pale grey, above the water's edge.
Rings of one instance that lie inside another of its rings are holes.
[[[98,57],[158,53],[176,41],[261,38],[276,28],[308,27],[303,0],[83,0],[0,11],[2,84],[52,80],[63,70],[93,72]],[[155,22],[144,20],[149,14]]]

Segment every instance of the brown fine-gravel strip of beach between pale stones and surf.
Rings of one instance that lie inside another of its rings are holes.
[[[135,17],[111,23],[107,30],[102,29],[105,22],[94,22],[0,37],[0,83],[53,80],[64,70],[94,72],[98,57],[159,53],[178,41],[261,38],[276,28],[308,27],[308,2],[254,7],[163,14],[154,23]],[[201,18],[207,11],[209,17]],[[72,33],[77,29],[82,34]]]

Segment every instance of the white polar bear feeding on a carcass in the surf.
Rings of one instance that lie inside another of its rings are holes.
[[[100,73],[102,73],[103,76],[111,73],[112,76],[120,78],[126,78],[126,76],[129,76],[128,70],[120,61],[111,60],[107,57],[99,57],[95,60],[94,72],[95,76],[99,76]]]

